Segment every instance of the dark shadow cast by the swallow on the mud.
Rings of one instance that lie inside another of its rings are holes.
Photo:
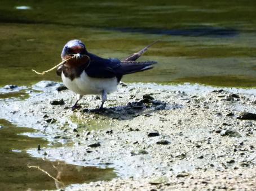
[[[154,112],[161,110],[175,110],[180,104],[170,104],[157,99],[144,98],[140,101],[129,102],[125,106],[107,107],[99,109],[84,109],[84,113],[97,114],[111,119],[130,120],[140,115],[151,116]]]

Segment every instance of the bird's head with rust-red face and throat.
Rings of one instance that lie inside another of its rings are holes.
[[[85,44],[83,44],[81,40],[70,40],[65,44],[61,52],[61,58],[62,60],[67,60],[68,58],[73,57],[66,64],[69,66],[78,66],[87,63],[87,61],[90,60],[87,53]]]

